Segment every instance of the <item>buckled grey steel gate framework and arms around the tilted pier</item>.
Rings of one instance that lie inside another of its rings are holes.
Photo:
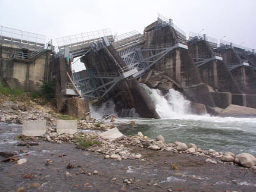
[[[108,51],[107,46],[104,46],[104,48]],[[188,46],[177,43],[174,46],[152,45],[127,48],[119,52],[126,66],[120,68],[117,73],[95,73],[93,70],[85,70],[85,78],[81,77],[81,73],[73,74],[74,82],[80,85],[83,97],[99,99],[107,95],[119,81],[126,78],[140,77],[146,70],[151,68],[152,65],[166,56],[168,52],[177,48],[188,49]],[[149,56],[143,58],[143,52],[149,53]],[[108,53],[110,52],[108,51]],[[110,56],[113,57],[111,53]],[[114,62],[120,67],[115,59]]]

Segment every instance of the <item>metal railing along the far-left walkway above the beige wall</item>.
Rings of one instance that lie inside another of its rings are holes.
[[[4,26],[0,26],[0,39],[36,46],[45,44],[45,36],[42,34],[25,32]]]

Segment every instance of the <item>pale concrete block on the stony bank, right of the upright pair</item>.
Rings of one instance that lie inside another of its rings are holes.
[[[57,120],[57,133],[58,135],[69,133],[77,133],[77,121],[76,120]]]

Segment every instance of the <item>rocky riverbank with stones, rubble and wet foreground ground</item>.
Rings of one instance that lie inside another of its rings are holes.
[[[0,164],[1,191],[256,190],[255,171],[232,161],[223,162],[223,153],[189,145],[188,150],[182,143],[155,141],[142,134],[115,142],[103,141],[88,129],[104,131],[114,125],[86,121],[79,121],[81,133],[57,136],[54,133],[58,114],[51,111],[51,105],[29,102],[26,110],[21,110],[24,104],[21,101],[8,98],[1,101],[2,122],[18,123],[24,119],[48,122],[48,133],[44,137],[25,140],[36,142],[38,146],[17,146],[21,142],[17,139],[21,125],[1,125],[1,151],[16,153],[13,161]],[[96,143],[86,150],[76,149],[83,149],[80,139],[92,139],[101,144]],[[4,159],[6,157],[1,158]],[[18,159],[27,162],[18,165]]]

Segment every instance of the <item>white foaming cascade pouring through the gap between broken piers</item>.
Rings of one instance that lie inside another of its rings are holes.
[[[150,89],[145,84],[141,84],[141,86],[150,96],[161,118],[182,118],[188,115],[190,102],[185,99],[182,93],[170,89],[167,94],[164,95],[158,89]]]

